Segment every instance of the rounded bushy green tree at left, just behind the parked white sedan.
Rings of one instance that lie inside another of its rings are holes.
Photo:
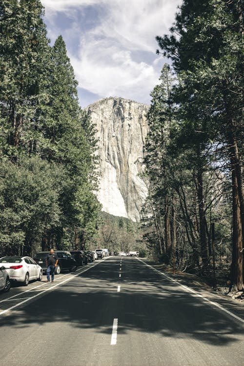
[[[41,235],[59,224],[55,166],[38,157],[0,164],[0,251],[30,253]]]

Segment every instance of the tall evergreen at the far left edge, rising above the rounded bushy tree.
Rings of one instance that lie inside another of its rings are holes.
[[[46,98],[49,62],[42,17],[39,0],[0,2],[1,154],[14,161],[41,134],[37,110]]]

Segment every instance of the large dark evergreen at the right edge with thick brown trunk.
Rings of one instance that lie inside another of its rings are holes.
[[[232,285],[243,284],[243,17],[239,0],[184,0],[172,35],[157,37],[183,80],[185,110],[194,105],[205,132],[225,145],[232,176]],[[204,111],[204,112],[203,112]],[[222,158],[224,158],[224,154]]]

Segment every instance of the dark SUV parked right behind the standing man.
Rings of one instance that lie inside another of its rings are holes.
[[[37,264],[41,265],[43,272],[46,272],[46,257],[48,253],[49,252],[38,252],[34,257],[34,261],[36,261]],[[70,252],[66,250],[55,250],[54,253],[57,254],[59,259],[59,262],[55,267],[55,274],[60,274],[60,272],[64,269],[68,269],[69,271],[76,271],[77,263],[74,258],[72,258]]]

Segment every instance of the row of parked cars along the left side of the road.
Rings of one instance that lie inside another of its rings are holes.
[[[38,252],[34,259],[28,256],[0,258],[0,291],[9,291],[11,282],[20,282],[27,286],[31,280],[41,281],[43,272],[47,270],[46,257],[48,253],[49,251]],[[59,260],[55,267],[55,274],[60,274],[62,270],[73,272],[78,266],[103,258],[92,250],[55,250],[55,253]]]

